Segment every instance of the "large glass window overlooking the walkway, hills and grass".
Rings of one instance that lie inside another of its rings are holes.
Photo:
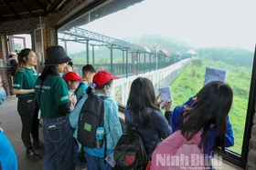
[[[176,106],[197,94],[206,66],[227,70],[226,83],[234,91],[229,118],[235,145],[229,149],[240,155],[256,35],[252,3],[146,0],[109,15],[101,14],[101,5],[59,28],[59,45],[75,65],[90,63],[123,77],[115,85],[121,105],[137,75],[152,80],[156,95],[157,87],[170,85]]]

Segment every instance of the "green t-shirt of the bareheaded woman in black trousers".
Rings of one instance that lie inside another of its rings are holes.
[[[32,68],[25,68],[24,70],[16,72],[14,77],[15,82],[13,88],[15,89],[33,89],[37,81],[37,73]],[[17,97],[34,96],[34,93],[17,95]]]

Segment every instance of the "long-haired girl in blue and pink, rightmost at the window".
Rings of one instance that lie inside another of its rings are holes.
[[[151,169],[211,169],[213,152],[220,147],[225,153],[232,99],[228,84],[212,81],[205,85],[176,119],[178,130],[156,146]]]

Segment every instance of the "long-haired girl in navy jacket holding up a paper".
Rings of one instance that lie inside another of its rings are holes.
[[[136,126],[144,142],[147,155],[151,155],[155,144],[172,134],[172,102],[165,102],[165,116],[155,102],[152,82],[144,77],[137,77],[130,90],[127,108],[124,110],[126,125]]]

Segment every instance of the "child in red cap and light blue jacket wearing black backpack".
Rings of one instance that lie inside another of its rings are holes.
[[[112,155],[123,132],[118,104],[106,96],[111,95],[113,79],[118,78],[107,71],[99,71],[93,76],[92,83],[86,90],[87,95],[80,99],[69,115],[70,125],[78,128],[75,134],[78,134],[80,144],[85,146],[88,169],[112,169],[105,157]]]

